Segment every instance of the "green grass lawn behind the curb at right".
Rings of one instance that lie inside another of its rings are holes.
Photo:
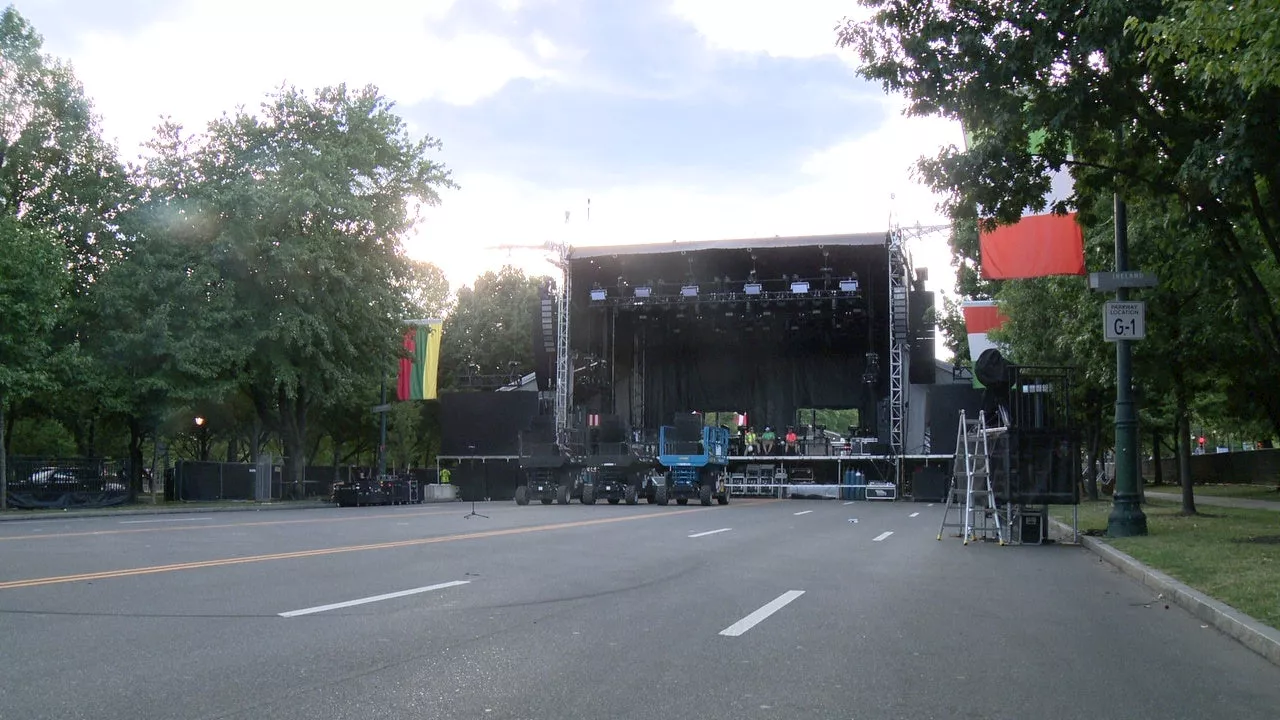
[[[1199,488],[1196,488],[1197,492]],[[1201,507],[1183,518],[1178,505],[1148,502],[1147,537],[1103,538],[1108,544],[1272,628],[1280,628],[1280,512]],[[1080,532],[1106,530],[1111,502],[1082,502]],[[1071,524],[1071,509],[1052,515]]]

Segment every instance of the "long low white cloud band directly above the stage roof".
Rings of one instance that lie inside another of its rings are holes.
[[[554,272],[541,260],[543,254],[486,250],[498,245],[883,232],[891,213],[904,227],[943,224],[945,217],[936,209],[941,199],[914,182],[910,173],[922,155],[959,142],[954,123],[891,113],[876,131],[804,159],[797,184],[780,193],[728,193],[678,183],[552,190],[462,173],[462,190],[447,193],[440,208],[424,213],[421,232],[407,246],[411,255],[440,265],[457,287],[508,261],[531,272]],[[571,210],[568,225],[564,210]],[[945,233],[913,242],[911,251],[918,265],[929,268],[931,287],[951,288]]]

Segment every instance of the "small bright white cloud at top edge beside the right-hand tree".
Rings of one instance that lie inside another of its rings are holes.
[[[852,0],[671,0],[669,8],[712,47],[774,58],[835,54],[836,24],[867,13]]]

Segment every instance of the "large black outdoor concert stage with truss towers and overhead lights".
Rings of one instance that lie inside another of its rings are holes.
[[[486,400],[442,397],[442,461],[457,466],[456,482],[468,462],[512,461],[515,438],[477,439],[494,434],[494,402],[512,405],[503,436],[508,419],[539,413],[562,432],[614,415],[637,439],[690,413],[771,427],[780,446],[794,427],[803,450],[768,462],[837,483],[844,468],[865,466],[902,495],[915,468],[950,459],[954,418],[950,438],[927,432],[928,391],[942,375],[933,293],[896,233],[575,247],[563,260],[534,322],[534,382]],[[526,398],[494,397],[512,391]],[[856,411],[856,427],[819,429],[822,410]],[[730,469],[762,462],[733,454]]]

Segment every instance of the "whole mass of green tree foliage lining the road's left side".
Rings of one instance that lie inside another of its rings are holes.
[[[278,438],[298,489],[321,446],[371,447],[404,320],[451,309],[403,243],[454,187],[440,141],[375,87],[282,87],[196,131],[163,123],[123,168],[41,47],[0,14],[0,475],[6,411],[46,447],[64,445],[50,423],[84,455],[127,438],[134,489],[143,442],[197,414],[229,459]]]

